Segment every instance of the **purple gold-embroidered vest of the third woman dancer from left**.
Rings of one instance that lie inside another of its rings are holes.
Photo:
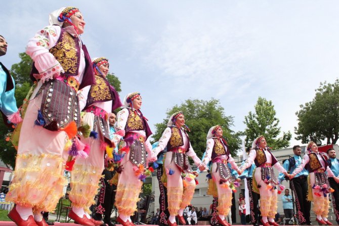
[[[146,139],[152,134],[151,129],[148,126],[146,119],[143,117],[140,110],[139,114],[135,114],[130,108],[127,108],[129,111],[129,118],[127,119],[126,126],[125,126],[125,133],[129,133],[132,131],[144,130],[146,132]]]

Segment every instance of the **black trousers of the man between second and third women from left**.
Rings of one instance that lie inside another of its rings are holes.
[[[112,179],[114,174],[115,171],[106,169],[102,172],[102,175],[105,175],[105,177],[100,179],[103,186],[100,189],[98,203],[95,209],[96,212],[94,218],[97,220],[103,219],[104,222],[110,222],[111,220],[111,213],[115,202],[116,186],[110,185],[108,180]],[[102,217],[102,215],[104,215],[104,217]]]

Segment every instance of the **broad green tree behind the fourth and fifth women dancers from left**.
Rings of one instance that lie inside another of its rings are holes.
[[[206,136],[210,127],[221,125],[223,135],[229,144],[232,156],[236,156],[236,151],[240,148],[240,138],[238,133],[231,130],[233,126],[233,117],[225,116],[224,108],[217,99],[209,101],[188,99],[180,105],[175,105],[166,112],[166,119],[162,123],[155,124],[155,133],[153,138],[159,140],[162,132],[167,127],[168,119],[177,111],[183,111],[185,115],[186,125],[191,129],[189,137],[193,149],[199,158],[202,157],[206,149]]]

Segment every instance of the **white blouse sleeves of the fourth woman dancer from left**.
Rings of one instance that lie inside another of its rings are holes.
[[[195,165],[199,166],[201,164],[201,160],[197,157],[196,153],[194,152],[192,144],[191,144],[191,142],[188,141],[188,137],[187,137],[184,129],[180,128],[180,130],[181,130],[181,134],[183,135],[184,145],[180,146],[179,148],[186,149],[188,147],[188,144],[189,144],[190,148],[188,149],[188,152],[186,152],[186,155],[193,159]],[[171,136],[172,136],[172,130],[171,130],[170,127],[167,127],[163,131],[163,133],[162,133],[162,135],[159,139],[158,146],[156,148],[154,148],[154,150],[153,150],[153,152],[155,153],[155,156],[157,156],[167,146],[167,143],[170,140]]]

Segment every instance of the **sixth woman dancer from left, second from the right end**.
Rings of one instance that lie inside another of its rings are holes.
[[[258,184],[260,192],[260,211],[262,215],[261,222],[264,226],[278,226],[274,221],[277,213],[277,189],[284,190],[284,186],[279,184],[272,166],[279,172],[289,176],[286,170],[279,164],[267,147],[264,136],[259,136],[252,143],[252,150],[249,153],[245,163],[240,167],[239,175],[255,162],[257,168],[253,178],[253,186]]]

